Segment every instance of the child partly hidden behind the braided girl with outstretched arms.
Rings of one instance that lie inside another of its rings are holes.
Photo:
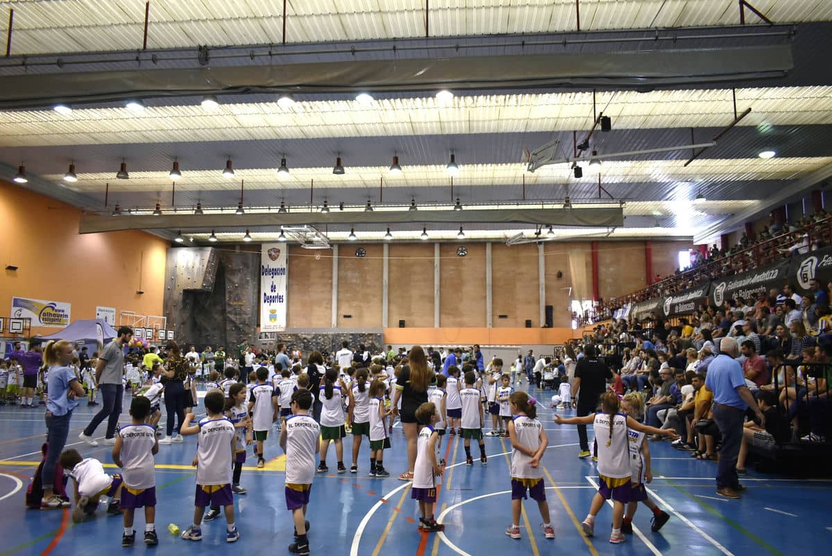
[[[636,420],[641,421],[641,415],[644,415],[644,397],[637,392],[627,394],[622,401],[622,410],[625,415],[635,417]],[[646,434],[644,433],[638,432],[637,430],[627,430],[627,434],[630,440],[630,469],[632,471],[630,482],[632,484],[632,496],[631,501],[626,504],[626,513],[622,521],[622,533],[632,534],[632,518],[636,515],[639,502],[646,505],[653,513],[650,530],[656,533],[656,531],[667,523],[668,519],[671,519],[671,516],[662,511],[647,496],[645,484],[653,480],[653,474],[650,469],[650,444],[644,441],[646,439]]]

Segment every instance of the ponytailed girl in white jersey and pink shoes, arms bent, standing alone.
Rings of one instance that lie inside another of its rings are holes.
[[[513,419],[508,421],[508,438],[512,442],[512,524],[506,534],[520,539],[520,514],[526,491],[537,502],[537,509],[543,519],[543,535],[555,538],[549,518],[549,503],[546,501],[546,487],[543,485],[543,471],[540,459],[546,453],[549,440],[543,425],[537,420],[537,400],[526,392],[514,392],[509,398]]]

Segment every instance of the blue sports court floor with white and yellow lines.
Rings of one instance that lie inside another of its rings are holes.
[[[541,395],[547,399],[551,395]],[[128,396],[129,398],[129,396]],[[127,400],[129,406],[129,399]],[[77,442],[77,434],[93,415],[86,404],[72,417],[69,444],[82,455],[111,464],[109,447],[91,448]],[[547,474],[547,498],[551,506],[556,539],[544,539],[539,529],[537,504],[526,502],[522,539],[509,539],[503,531],[511,520],[508,480],[507,439],[487,437],[488,465],[477,459],[473,467],[464,464],[462,441],[445,436],[443,450],[448,469],[438,494],[438,519],[446,524],[444,534],[420,534],[418,505],[410,499],[409,484],[394,476],[370,479],[366,440],[359,459],[359,474],[329,474],[315,478],[309,519],[312,554],[328,556],[436,556],[503,554],[697,554],[744,556],[745,554],[828,554],[832,544],[832,481],[790,480],[760,476],[749,471],[743,481],[748,490],[743,499],[716,497],[716,464],[695,461],[672,449],[666,442],[652,443],[653,474],[651,496],[671,513],[660,533],[651,533],[651,514],[641,506],[636,514],[636,534],[622,545],[607,542],[611,509],[602,509],[596,524],[597,536],[585,538],[579,523],[587,514],[597,473],[592,461],[577,459],[574,426],[552,423],[552,411],[542,409],[549,449],[542,464]],[[44,439],[43,410],[0,407],[0,556],[46,554],[118,554],[124,552],[159,554],[288,554],[292,523],[285,509],[283,458],[276,435],[266,443],[265,469],[247,467],[241,484],[249,494],[235,496],[236,523],[241,538],[225,543],[225,520],[203,525],[200,543],[167,533],[167,525],[181,528],[190,523],[193,512],[194,472],[190,466],[196,453],[196,439],[185,444],[160,446],[156,456],[156,529],[160,544],[146,548],[137,544],[121,548],[121,517],[99,512],[96,519],[72,524],[68,510],[24,509],[28,479],[40,459]],[[127,415],[124,415],[124,419]],[[164,417],[163,421],[164,423]],[[104,425],[97,430],[102,438]],[[448,443],[449,439],[449,443]],[[351,438],[344,443],[349,467]],[[404,434],[397,428],[393,449],[385,454],[391,474],[404,469]],[[478,449],[473,447],[473,455]],[[250,460],[249,464],[254,465]],[[329,469],[334,469],[334,449],[329,452]],[[114,472],[116,469],[112,469]],[[102,510],[104,506],[102,506]],[[136,529],[144,526],[136,513]],[[684,552],[682,552],[684,551]]]

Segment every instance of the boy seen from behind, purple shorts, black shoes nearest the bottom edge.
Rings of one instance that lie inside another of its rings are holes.
[[[292,393],[292,415],[286,417],[280,429],[280,448],[286,453],[286,508],[295,522],[295,544],[289,545],[292,554],[310,554],[310,522],[306,508],[310,502],[314,460],[318,454],[320,425],[310,415],[312,395],[309,390]]]

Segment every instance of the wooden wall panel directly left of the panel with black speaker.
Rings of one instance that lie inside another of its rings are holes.
[[[540,325],[537,246],[491,245],[492,325],[495,328]],[[501,319],[499,315],[508,315]]]

